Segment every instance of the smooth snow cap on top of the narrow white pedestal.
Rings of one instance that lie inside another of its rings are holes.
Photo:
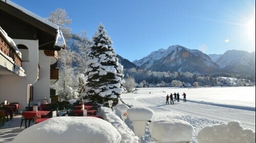
[[[131,121],[148,121],[153,117],[154,111],[146,107],[133,107],[127,110]]]

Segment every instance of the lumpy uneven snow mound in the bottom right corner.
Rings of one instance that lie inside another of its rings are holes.
[[[198,133],[199,143],[252,143],[255,142],[255,131],[244,129],[241,123],[231,121],[227,124],[207,126]]]

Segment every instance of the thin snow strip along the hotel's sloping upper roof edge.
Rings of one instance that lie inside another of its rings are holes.
[[[39,21],[45,23],[46,25],[48,25],[48,26],[50,26],[50,27],[52,27],[52,28],[54,28],[54,29],[56,29],[56,30],[59,29],[59,27],[58,27],[57,25],[55,25],[54,23],[48,21],[48,20],[45,19],[45,18],[42,18],[42,17],[40,17],[40,16],[34,14],[33,12],[31,12],[31,11],[29,11],[29,10],[27,10],[27,9],[25,9],[25,8],[23,8],[23,7],[19,6],[19,5],[17,5],[17,4],[15,4],[15,3],[11,2],[11,1],[5,1],[5,0],[1,0],[1,1],[3,1],[3,2],[5,2],[5,3],[7,3],[7,4],[9,4],[9,5],[11,5],[11,6],[17,8],[17,9],[19,9],[20,11],[22,11],[22,12],[28,14],[29,16],[31,16],[31,17],[33,17],[33,18],[35,18],[35,19],[37,19],[37,20],[39,20]]]

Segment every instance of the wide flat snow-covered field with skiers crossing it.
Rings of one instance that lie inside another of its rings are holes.
[[[166,105],[165,96],[171,92],[185,92],[187,102],[181,96],[180,103]],[[187,121],[195,129],[192,142],[197,142],[203,127],[229,121],[239,121],[244,128],[255,130],[255,87],[138,88],[137,92],[122,94],[121,98],[134,107],[154,110],[152,121],[164,118]],[[152,142],[148,131],[142,142]]]

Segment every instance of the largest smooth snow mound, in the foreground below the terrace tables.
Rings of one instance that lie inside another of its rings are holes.
[[[12,143],[106,142],[119,143],[121,135],[109,122],[96,117],[53,117],[20,132]]]

